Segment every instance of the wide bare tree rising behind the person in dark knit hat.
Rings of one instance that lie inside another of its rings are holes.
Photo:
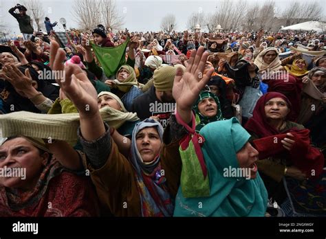
[[[82,29],[93,29],[98,24],[119,29],[123,18],[118,14],[114,0],[75,0],[72,15]]]

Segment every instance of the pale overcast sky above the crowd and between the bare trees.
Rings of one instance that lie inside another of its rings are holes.
[[[221,1],[237,0],[117,0],[117,10],[124,16],[124,25],[132,31],[157,31],[160,30],[162,17],[166,14],[175,14],[177,20],[177,30],[186,29],[186,21],[192,12],[202,11],[204,13],[215,12]],[[297,0],[307,1],[307,0]],[[248,4],[255,3],[256,0],[248,0]],[[263,0],[259,1],[262,4]],[[320,5],[325,5],[325,0],[318,0]],[[18,22],[8,12],[10,8],[19,3],[19,0],[0,0],[0,25],[7,27],[12,34],[20,34]],[[276,0],[278,10],[286,8],[290,0]],[[41,4],[45,10],[45,16],[51,22],[58,21],[61,17],[67,20],[67,27],[78,27],[72,16],[74,0],[42,0]],[[323,15],[326,16],[326,8],[323,8]],[[223,26],[222,26],[223,27]],[[63,30],[61,24],[54,27],[54,30]],[[45,29],[43,29],[45,31]]]

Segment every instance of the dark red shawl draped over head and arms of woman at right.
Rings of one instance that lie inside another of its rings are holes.
[[[307,177],[318,177],[323,172],[324,157],[318,149],[310,145],[310,131],[291,128],[281,134],[279,130],[268,124],[265,116],[265,103],[272,98],[282,98],[291,109],[289,100],[278,92],[266,93],[257,101],[252,117],[248,120],[245,128],[259,137],[254,140],[254,146],[259,152],[259,159],[285,154],[285,157],[290,159],[294,166],[305,172]],[[295,139],[290,152],[281,144],[281,140],[287,137],[286,133],[292,133]],[[312,170],[314,170],[314,174],[312,174]]]

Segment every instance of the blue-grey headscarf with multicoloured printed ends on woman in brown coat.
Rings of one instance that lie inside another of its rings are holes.
[[[136,124],[131,138],[131,157],[129,157],[138,184],[142,216],[172,216],[173,203],[166,187],[166,178],[162,174],[160,155],[151,162],[144,163],[136,144],[137,134],[144,128],[154,127],[163,139],[162,125],[151,119]]]

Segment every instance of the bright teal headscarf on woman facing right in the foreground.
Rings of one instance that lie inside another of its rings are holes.
[[[235,117],[213,122],[200,130],[202,152],[210,179],[210,196],[184,198],[181,187],[174,216],[265,216],[268,194],[257,172],[256,179],[224,177],[224,170],[239,168],[237,152],[250,138]]]

